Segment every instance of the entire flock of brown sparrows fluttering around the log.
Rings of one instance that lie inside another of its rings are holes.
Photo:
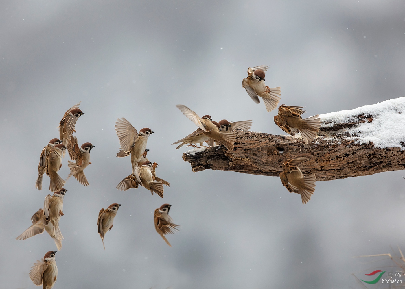
[[[257,66],[248,68],[248,77],[243,79],[242,87],[246,89],[249,96],[256,102],[260,103],[259,97],[262,98],[268,112],[274,110],[280,101],[280,87],[269,88],[265,85],[265,71],[268,66]],[[84,169],[91,164],[90,151],[94,147],[90,142],[85,142],[79,147],[77,138],[73,136],[75,132],[75,124],[77,119],[84,115],[79,109],[80,102],[72,106],[66,111],[59,124],[60,138],[53,138],[49,141],[46,147],[43,148],[38,165],[38,178],[35,187],[42,189],[43,175],[47,174],[50,178],[49,190],[53,195],[45,197],[44,206],[40,208],[32,216],[32,225],[26,229],[17,240],[25,240],[36,234],[42,234],[44,231],[53,238],[58,250],[62,249],[62,233],[59,228],[59,220],[63,214],[63,198],[68,191],[63,186],[70,178],[74,176],[79,183],[88,186],[89,183],[84,174]],[[180,111],[192,120],[198,129],[185,138],[173,143],[179,144],[176,149],[179,149],[184,144],[189,146],[205,147],[205,143],[209,147],[213,145],[223,145],[229,151],[234,150],[236,142],[235,130],[249,130],[252,125],[252,120],[229,122],[222,119],[219,122],[213,121],[211,116],[204,115],[199,117],[194,111],[184,105],[177,105]],[[301,115],[305,110],[302,106],[286,106],[282,104],[278,108],[278,115],[274,117],[274,122],[285,132],[292,136],[296,132],[300,132],[305,144],[311,142],[319,131],[320,119],[318,115],[302,119]],[[117,189],[126,191],[128,189],[137,189],[139,185],[145,187],[149,191],[156,193],[163,198],[163,185],[170,186],[170,183],[156,176],[156,168],[158,164],[147,159],[147,140],[153,131],[145,127],[137,132],[135,127],[126,119],[118,119],[116,121],[115,130],[119,138],[121,148],[116,154],[117,157],[126,157],[131,155],[132,173],[126,176],[118,185]],[[58,171],[62,167],[62,158],[67,149],[70,159],[68,167],[70,173],[66,180],[60,177]],[[307,203],[313,192],[315,191],[315,174],[304,177],[301,170],[298,168],[300,164],[308,160],[304,157],[296,157],[288,159],[283,163],[283,172],[280,173],[282,184],[290,192],[299,193],[302,202]],[[114,217],[117,214],[121,204],[111,204],[108,208],[102,208],[98,214],[97,227],[98,233],[104,246],[104,236],[113,227]],[[164,235],[173,234],[178,231],[179,225],[173,223],[173,219],[168,215],[171,208],[170,204],[163,204],[160,208],[156,208],[153,219],[155,229],[164,241],[171,246]],[[105,250],[105,246],[104,246]],[[30,278],[37,286],[43,285],[45,289],[51,289],[56,282],[58,276],[58,268],[55,262],[56,251],[49,251],[45,254],[42,260],[34,263],[30,270]]]

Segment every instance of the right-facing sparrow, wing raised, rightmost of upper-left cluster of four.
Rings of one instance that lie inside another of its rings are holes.
[[[68,175],[66,181],[70,178],[70,176],[74,176],[77,181],[79,181],[79,183],[88,186],[89,182],[87,182],[87,178],[83,170],[87,168],[88,165],[92,164],[90,162],[90,151],[92,150],[92,148],[94,148],[94,145],[92,145],[90,142],[85,142],[79,149],[77,138],[75,136],[71,136],[70,140],[68,141],[67,147],[70,159],[76,162],[74,163],[72,161],[68,161],[70,174]]]

